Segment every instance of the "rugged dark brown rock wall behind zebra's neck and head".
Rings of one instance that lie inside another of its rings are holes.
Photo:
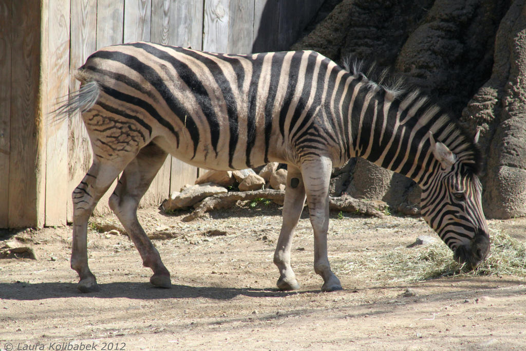
[[[481,129],[485,213],[526,216],[523,1],[343,0],[292,49],[313,49],[336,62],[352,55],[392,68],[473,135]],[[361,159],[347,169],[347,178],[335,172],[333,192],[414,211],[419,189],[410,179]]]

